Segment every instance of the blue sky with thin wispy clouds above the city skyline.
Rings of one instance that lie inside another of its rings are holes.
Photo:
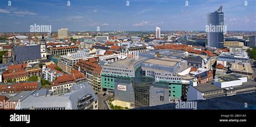
[[[227,30],[256,30],[256,1],[247,0],[9,0],[0,2],[0,32],[28,32],[30,25],[52,31],[205,30],[207,13],[223,5]]]

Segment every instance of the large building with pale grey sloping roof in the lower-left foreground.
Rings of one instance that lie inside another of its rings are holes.
[[[70,89],[59,88],[53,93],[48,89],[33,91],[20,100],[16,109],[98,109],[98,97],[88,82],[80,82],[74,84]]]

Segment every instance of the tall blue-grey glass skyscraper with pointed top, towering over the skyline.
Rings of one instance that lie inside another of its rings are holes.
[[[215,12],[208,13],[208,26],[224,26],[224,13],[222,11],[223,6]],[[222,29],[223,30],[223,29]],[[224,46],[224,35],[223,31],[208,31],[207,34],[208,47],[223,48]]]

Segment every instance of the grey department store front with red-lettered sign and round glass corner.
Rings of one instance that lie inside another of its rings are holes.
[[[116,105],[136,108],[169,103],[169,86],[149,76],[117,77],[114,85]]]

